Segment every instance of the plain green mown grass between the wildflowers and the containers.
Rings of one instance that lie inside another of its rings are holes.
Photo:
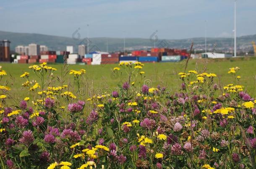
[[[28,93],[27,90],[21,90],[21,83],[24,83],[26,80],[24,78],[20,78],[20,75],[26,71],[30,73],[29,78],[31,80],[39,80],[28,68],[29,64],[0,63],[0,65],[2,66],[3,70],[8,73],[7,76],[3,77],[2,83],[4,82],[5,85],[8,84],[8,86],[13,89],[12,91],[16,92],[18,94],[17,96],[21,98],[27,96]],[[57,68],[57,71],[55,71],[54,74],[60,76],[63,64],[51,64],[49,66]],[[86,70],[86,84],[82,84],[81,86],[87,89],[85,95],[83,96],[88,96],[88,90],[102,93],[109,88],[116,88],[117,84],[123,84],[125,81],[127,81],[127,76],[125,75],[114,76],[112,69],[117,66],[118,64],[98,66],[69,65],[68,70],[80,70],[81,68]],[[235,66],[240,68],[237,75],[241,76],[240,81],[236,81],[236,83],[246,86],[246,91],[248,91],[248,93],[252,96],[256,96],[256,58],[232,58],[225,60],[191,59],[188,62],[187,71],[197,70],[198,72],[203,72],[203,70],[206,68],[207,72],[217,74],[218,78],[216,78],[216,83],[223,86],[228,83],[235,83],[234,77],[227,73],[229,68]],[[145,63],[142,70],[145,72],[145,78],[141,83],[145,82],[154,87],[157,87],[157,85],[166,86],[173,91],[177,91],[176,89],[180,88],[180,79],[178,73],[184,71],[184,68],[185,61],[179,63]],[[68,84],[70,81],[73,81],[73,76],[67,75],[65,77],[65,83]],[[56,86],[58,86],[57,83]]]

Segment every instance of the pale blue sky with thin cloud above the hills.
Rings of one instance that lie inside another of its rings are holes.
[[[206,30],[232,37],[234,0],[1,0],[0,16],[0,30],[18,33],[183,39]],[[252,34],[256,0],[237,0],[237,35]]]

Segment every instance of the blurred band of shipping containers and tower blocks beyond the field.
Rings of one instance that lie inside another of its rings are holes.
[[[252,42],[254,53],[256,45]],[[114,64],[120,62],[178,62],[191,58],[231,58],[230,53],[190,53],[185,49],[151,48],[150,50],[130,50],[108,53],[102,51],[90,51],[86,45],[78,45],[78,53],[74,52],[74,46],[66,46],[66,50],[51,51],[46,45],[31,43],[27,46],[18,45],[15,54],[10,54],[10,41],[0,41],[0,61],[12,63],[64,63],[67,64]]]

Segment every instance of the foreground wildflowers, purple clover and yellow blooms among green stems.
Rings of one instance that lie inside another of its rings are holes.
[[[112,73],[125,81],[86,97],[85,69],[27,70],[17,100],[0,69],[2,169],[256,168],[256,100],[235,63],[224,86],[217,73],[184,69],[175,91],[144,83],[144,63],[120,63]]]

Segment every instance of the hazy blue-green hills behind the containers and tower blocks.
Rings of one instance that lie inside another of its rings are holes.
[[[8,39],[11,41],[11,50],[17,45],[28,45],[29,43],[37,43],[39,45],[47,45],[49,50],[65,50],[67,45],[73,45],[75,51],[78,51],[79,44],[87,44],[86,39],[75,39],[53,35],[42,35],[36,33],[12,33],[0,31],[0,39]],[[238,51],[253,50],[251,41],[256,41],[256,35],[246,35],[238,37]],[[123,51],[123,38],[90,38],[89,50],[106,51],[107,44],[109,52]],[[184,48],[189,49],[191,43],[194,43],[194,49],[204,50],[204,38],[189,38],[180,40],[153,40],[144,38],[126,38],[125,49],[148,49],[154,47]],[[207,49],[210,51],[232,52],[233,38],[207,38]]]

